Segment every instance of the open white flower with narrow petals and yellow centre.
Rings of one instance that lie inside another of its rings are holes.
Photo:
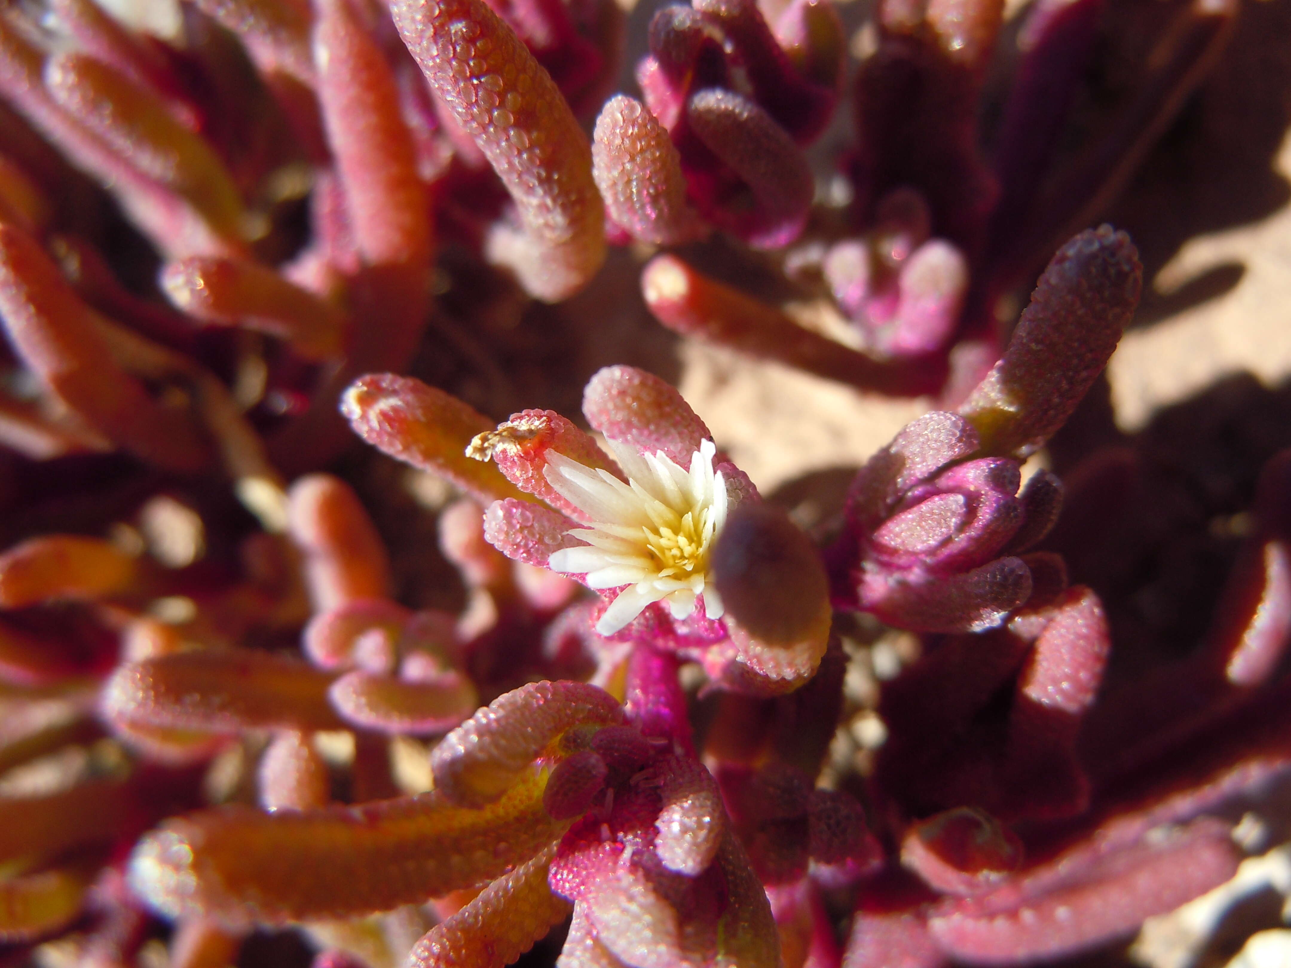
[[[627,483],[563,454],[549,454],[544,475],[590,519],[569,533],[587,543],[551,554],[554,572],[586,574],[591,589],[627,586],[596,622],[613,635],[655,601],[674,618],[695,612],[704,595],[709,618],[722,617],[722,598],[709,580],[709,552],[727,516],[726,480],[713,470],[717,448],[700,444],[687,471],[662,450],[638,454],[609,441]]]

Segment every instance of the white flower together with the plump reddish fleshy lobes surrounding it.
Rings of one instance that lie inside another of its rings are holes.
[[[589,634],[649,641],[744,691],[780,692],[809,678],[830,609],[806,536],[762,505],[658,377],[608,367],[587,383],[584,412],[608,453],[551,410],[524,410],[475,436],[470,457],[492,459],[550,506],[494,501],[485,538],[598,591]]]

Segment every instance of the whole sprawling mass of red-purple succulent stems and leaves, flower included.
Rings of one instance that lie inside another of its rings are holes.
[[[653,12],[640,99],[615,0],[0,12],[0,956],[1028,964],[1226,880],[1220,808],[1291,767],[1291,453],[1197,648],[1114,681],[1062,552],[1124,461],[1068,493],[1032,459],[1143,283],[1123,232],[1068,236],[1235,13],[1175,4],[1057,164],[1103,8],[1032,5],[988,161],[1003,3],[883,0],[846,216],[804,154],[848,86],[829,0]],[[713,236],[851,343],[656,253]],[[407,376],[498,369],[436,296],[564,303],[612,247],[665,327],[932,409],[808,534],[644,369],[580,422]],[[359,439],[439,494],[462,608],[400,587]],[[864,768],[862,632],[918,653]]]

